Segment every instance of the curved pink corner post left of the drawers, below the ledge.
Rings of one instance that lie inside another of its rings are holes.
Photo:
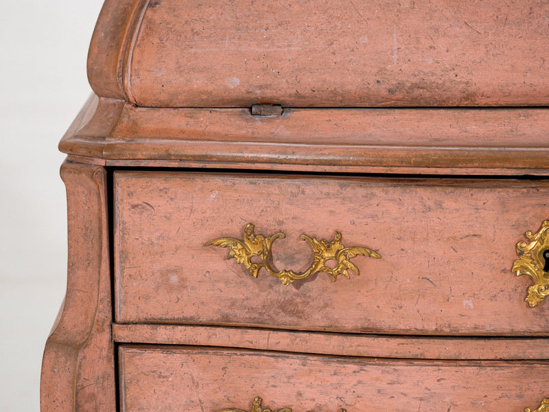
[[[64,163],[69,262],[67,295],[47,340],[42,412],[115,412],[106,171]]]

